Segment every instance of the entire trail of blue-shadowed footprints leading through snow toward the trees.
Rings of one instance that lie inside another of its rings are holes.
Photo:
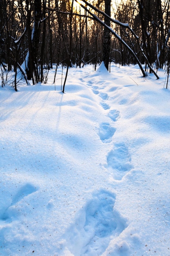
[[[104,84],[104,81],[100,81],[100,85],[102,84]],[[120,113],[118,110],[110,109],[107,103],[108,94],[101,92],[104,89],[103,87],[100,88],[92,81],[88,81],[87,86],[99,97],[100,106],[107,111],[106,116],[110,118],[110,122],[102,122],[99,125],[97,133],[102,143],[113,144],[113,149],[106,155],[107,164],[104,167],[109,173],[108,176],[112,176],[112,180],[121,180],[132,169],[132,164],[130,163],[131,159],[126,144],[122,142],[113,143],[116,132],[114,124],[121,118]],[[74,256],[102,255],[108,248],[110,240],[119,237],[126,229],[127,224],[126,220],[114,209],[115,200],[115,194],[109,191],[101,189],[93,193],[92,199],[86,202],[83,209],[78,211],[75,222],[67,232],[69,252]],[[120,253],[123,253],[124,256],[128,255],[128,247],[122,249]]]

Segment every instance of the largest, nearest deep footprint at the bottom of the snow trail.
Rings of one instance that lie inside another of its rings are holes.
[[[126,221],[114,209],[115,195],[99,191],[87,202],[68,231],[68,249],[73,255],[101,255],[110,239],[119,236]]]

